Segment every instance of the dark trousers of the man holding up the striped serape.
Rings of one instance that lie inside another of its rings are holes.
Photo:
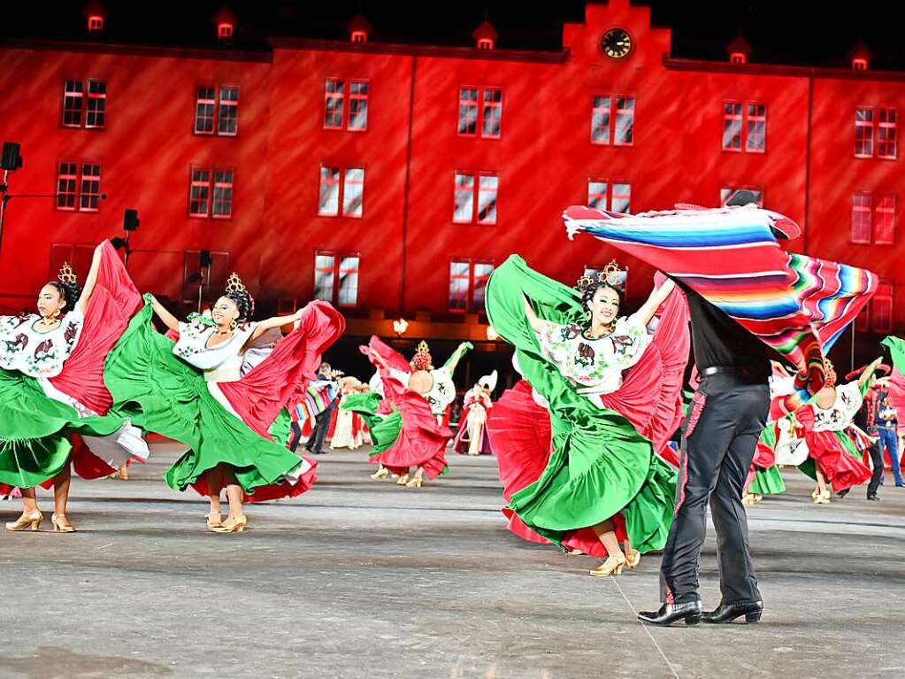
[[[698,561],[707,533],[708,503],[717,532],[723,601],[760,598],[741,493],[768,412],[766,384],[729,375],[701,380],[684,424],[675,517],[660,569],[662,600],[684,603],[699,598]]]

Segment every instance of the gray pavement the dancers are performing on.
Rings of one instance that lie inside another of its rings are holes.
[[[206,502],[161,476],[73,481],[80,529],[0,532],[0,677],[905,677],[905,489],[830,505],[788,492],[748,510],[766,612],[757,626],[647,629],[660,558],[618,579],[511,535],[492,458],[451,454],[420,490],[319,457],[319,483],[205,531]],[[0,519],[18,515],[0,503]],[[701,594],[719,588],[712,531]]]

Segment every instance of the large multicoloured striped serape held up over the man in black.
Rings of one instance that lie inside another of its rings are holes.
[[[753,205],[639,215],[572,206],[563,218],[570,238],[585,231],[684,282],[794,364],[788,410],[824,385],[824,351],[877,288],[874,273],[786,253],[776,234],[795,237],[798,226]]]

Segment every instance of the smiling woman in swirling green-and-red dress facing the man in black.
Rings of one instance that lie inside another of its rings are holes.
[[[531,467],[544,454],[545,423],[529,432],[517,424],[525,418],[507,417],[518,409],[537,412],[525,402],[526,389],[507,392],[491,416],[510,497],[506,512],[519,520],[510,527],[529,540],[606,556],[594,576],[619,575],[666,540],[675,471],[654,453],[681,419],[689,352],[688,308],[674,284],[661,280],[626,318],[619,317],[617,280],[611,264],[597,280],[582,277],[577,290],[567,288],[513,255],[487,288],[491,324],[515,345],[519,371],[535,392],[528,398],[549,413],[549,458],[538,472]],[[664,301],[652,341],[646,326]],[[624,378],[626,368],[632,370]]]

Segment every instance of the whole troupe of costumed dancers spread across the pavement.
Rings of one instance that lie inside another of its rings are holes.
[[[647,622],[756,621],[743,505],[785,490],[780,466],[814,479],[815,504],[862,483],[879,500],[886,458],[903,485],[905,341],[884,340],[889,363],[844,380],[825,358],[877,278],[785,252],[797,225],[744,200],[641,215],[572,207],[564,219],[570,238],[590,234],[650,264],[652,292],[624,315],[615,263],[573,287],[510,256],[486,305],[521,379],[496,403],[496,372],[479,379],[455,435],[453,376],[470,343],[437,368],[424,342],[408,360],[372,337],[360,348],[375,368],[364,383],[322,360],[345,328],[329,303],[252,321],[233,274],[209,313],[179,320],[100,244],[81,287],[66,266],[37,313],[0,317],[0,493],[23,502],[6,528],[39,530],[43,485],[53,530],[75,531],[71,473],[101,478],[147,459],[148,434],[186,446],[166,482],[205,496],[207,528],[220,533],[244,530],[245,503],[310,490],[318,464],[296,453],[302,439],[310,455],[328,441],[369,445],[372,478],[412,489],[448,471],[452,448],[495,454],[510,530],[602,559],[592,576],[664,550],[662,607]],[[703,614],[708,506],[723,601]]]

